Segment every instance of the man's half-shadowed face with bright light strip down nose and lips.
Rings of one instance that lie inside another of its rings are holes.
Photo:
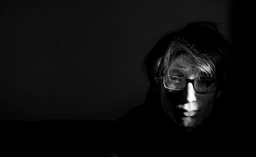
[[[195,69],[191,69],[191,64],[183,59],[169,67],[169,74],[188,79],[195,79],[199,75]],[[211,113],[215,99],[220,93],[196,93],[192,83],[187,83],[181,91],[167,89],[162,84],[161,103],[164,112],[173,122],[186,128],[194,128]]]

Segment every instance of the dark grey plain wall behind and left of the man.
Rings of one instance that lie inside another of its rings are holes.
[[[1,2],[0,120],[116,120],[143,103],[147,51],[194,20],[220,23],[225,1]]]

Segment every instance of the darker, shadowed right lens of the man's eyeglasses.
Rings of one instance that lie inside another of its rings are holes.
[[[196,92],[211,93],[214,92],[216,81],[212,78],[198,78],[194,82]]]

